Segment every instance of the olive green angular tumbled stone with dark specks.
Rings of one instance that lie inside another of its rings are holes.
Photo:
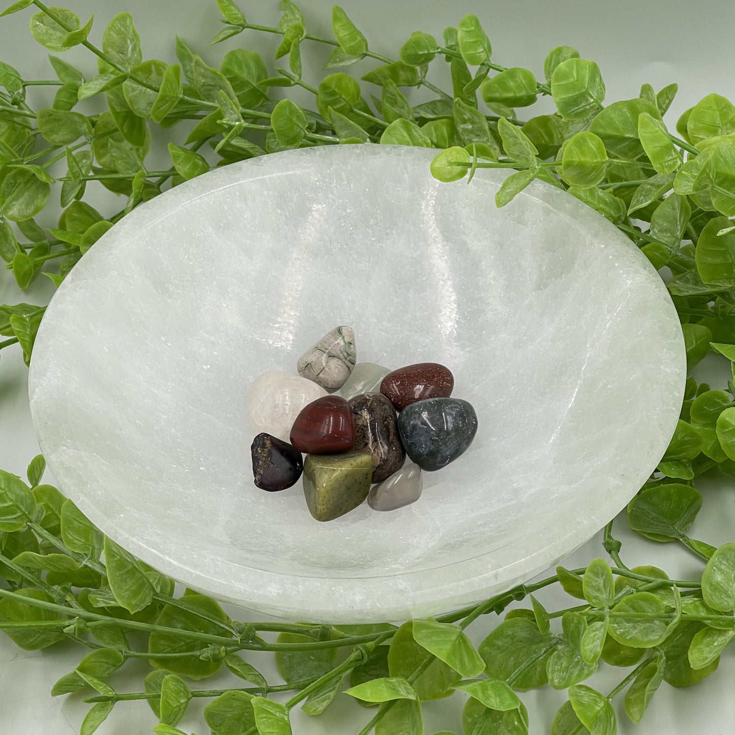
[[[308,454],[302,477],[309,512],[316,520],[334,520],[368,497],[373,458],[362,452]]]

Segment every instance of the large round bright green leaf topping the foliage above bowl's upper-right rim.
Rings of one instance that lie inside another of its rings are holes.
[[[576,57],[559,62],[551,74],[551,96],[565,120],[589,117],[605,99],[600,68],[594,61]]]

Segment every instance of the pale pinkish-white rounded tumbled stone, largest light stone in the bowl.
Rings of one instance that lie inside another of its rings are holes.
[[[324,395],[323,387],[293,373],[262,373],[253,381],[248,396],[250,428],[254,434],[265,432],[287,442],[301,409]]]

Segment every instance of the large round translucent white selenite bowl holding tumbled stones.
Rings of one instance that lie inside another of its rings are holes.
[[[503,172],[432,179],[436,151],[333,146],[208,173],[143,204],[61,285],[31,409],[105,534],[190,587],[318,622],[481,600],[573,551],[656,467],[684,389],[659,276],[585,204]],[[319,523],[254,487],[247,404],[339,324],[358,359],[442,362],[479,429],[420,501]]]

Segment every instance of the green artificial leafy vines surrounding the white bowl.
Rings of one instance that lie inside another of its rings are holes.
[[[82,24],[71,10],[19,0],[1,14],[33,11],[31,33],[52,52],[57,76],[26,80],[0,62],[0,257],[21,290],[39,273],[58,286],[138,204],[212,166],[309,146],[423,146],[437,148],[431,171],[444,182],[471,180],[478,168],[512,172],[498,188],[498,206],[541,179],[597,209],[667,283],[689,369],[714,351],[733,362],[735,376],[730,101],[705,96],[681,115],[674,134],[663,118],[675,84],[658,92],[643,85],[639,96],[606,105],[595,62],[559,46],[542,75],[505,67],[492,60],[475,15],[445,29],[441,40],[413,33],[391,58],[371,50],[337,6],[334,37],[327,38],[306,32],[291,0],[281,0],[276,27],[249,22],[232,0],[217,4],[224,27],[212,43],[233,47],[218,68],[179,38],[177,63],[146,60],[125,12],[98,44],[90,40],[93,19]],[[251,33],[272,35],[274,57],[288,57],[288,68],[280,62],[270,71],[248,51]],[[304,70],[302,43],[331,47],[326,73]],[[74,46],[96,58],[96,75],[57,55]],[[360,80],[334,71],[365,59],[378,65]],[[448,65],[451,90],[431,82],[432,64]],[[30,107],[32,87],[54,90],[51,107]],[[290,98],[297,87],[312,96],[310,104]],[[82,112],[91,98],[104,101],[104,112]],[[539,98],[553,110],[519,120],[517,110]],[[154,126],[173,138],[163,170],[146,165]],[[85,201],[88,187],[104,187],[125,204],[104,217]],[[46,209],[57,202],[62,215],[51,226]],[[0,349],[18,344],[28,363],[44,310],[0,306],[0,335],[7,337]],[[51,693],[90,695],[82,735],[140,699],[157,718],[156,733],[182,735],[177,725],[193,698],[210,700],[204,718],[212,735],[287,735],[296,706],[318,716],[338,696],[376,707],[359,735],[420,735],[422,703],[453,692],[467,698],[458,733],[524,735],[528,713],[519,693],[547,684],[568,693],[552,735],[613,735],[614,698],[623,695],[626,715],[638,722],[661,682],[688,686],[705,678],[735,637],[735,544],[714,548],[689,535],[702,504],[695,479],[710,471],[735,476],[733,381],[712,390],[687,380],[670,445],[628,506],[628,525],[643,537],[678,542],[700,557],[699,578],[628,568],[610,524],[603,536],[609,561],[559,567],[476,606],[400,627],[242,623],[204,595],[187,589],[177,597],[171,579],[104,537],[56,488],[39,484],[44,469],[37,456],[27,483],[0,472],[0,629],[29,650],[65,639],[81,647],[78,666]],[[573,600],[549,611],[543,590],[556,584]],[[473,646],[469,625],[522,601],[526,607],[511,609]],[[142,645],[131,644],[131,632]],[[284,683],[259,673],[259,657],[271,653]],[[150,673],[140,691],[116,692],[110,677],[130,659],[146,659]],[[606,695],[588,682],[600,665],[629,669]],[[232,688],[190,686],[223,667]],[[294,693],[285,702],[270,696],[280,692]]]

